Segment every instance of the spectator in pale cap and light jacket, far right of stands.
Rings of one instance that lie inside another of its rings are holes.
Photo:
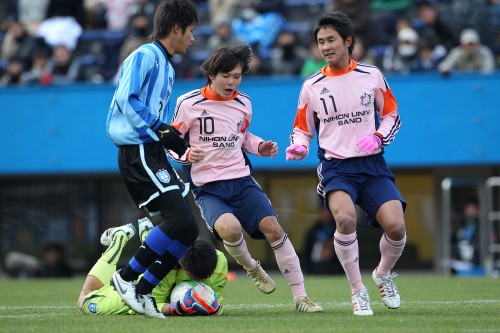
[[[492,73],[495,70],[493,52],[481,44],[479,34],[474,29],[464,29],[460,34],[460,45],[453,48],[439,64],[443,75],[451,72]]]

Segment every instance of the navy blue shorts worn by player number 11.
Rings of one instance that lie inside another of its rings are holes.
[[[382,154],[345,160],[322,161],[318,166],[318,195],[328,208],[328,193],[344,191],[351,200],[363,208],[374,226],[380,206],[387,201],[399,200],[406,209],[406,202],[399,193],[394,175]]]

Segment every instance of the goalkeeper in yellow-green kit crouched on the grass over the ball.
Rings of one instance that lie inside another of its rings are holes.
[[[141,243],[153,228],[148,218],[139,220]],[[77,306],[84,314],[116,315],[135,314],[121,299],[113,285],[112,274],[127,242],[135,235],[135,227],[127,225],[110,228],[101,236],[101,244],[108,248],[97,260],[83,284]],[[171,311],[170,294],[176,284],[186,281],[200,281],[210,286],[220,304],[222,291],[227,281],[227,259],[206,240],[197,240],[179,260],[178,266],[160,281],[152,291],[152,297],[159,312],[164,315],[178,313]],[[172,305],[174,307],[175,304]],[[222,314],[222,309],[217,312]]]

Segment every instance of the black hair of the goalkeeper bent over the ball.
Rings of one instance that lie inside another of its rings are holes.
[[[217,266],[215,247],[204,239],[196,240],[179,260],[182,269],[196,281],[210,277]]]

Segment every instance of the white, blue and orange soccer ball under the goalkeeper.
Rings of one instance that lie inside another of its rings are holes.
[[[191,280],[183,281],[172,289],[170,303],[174,315],[217,315],[221,310],[212,288]]]

